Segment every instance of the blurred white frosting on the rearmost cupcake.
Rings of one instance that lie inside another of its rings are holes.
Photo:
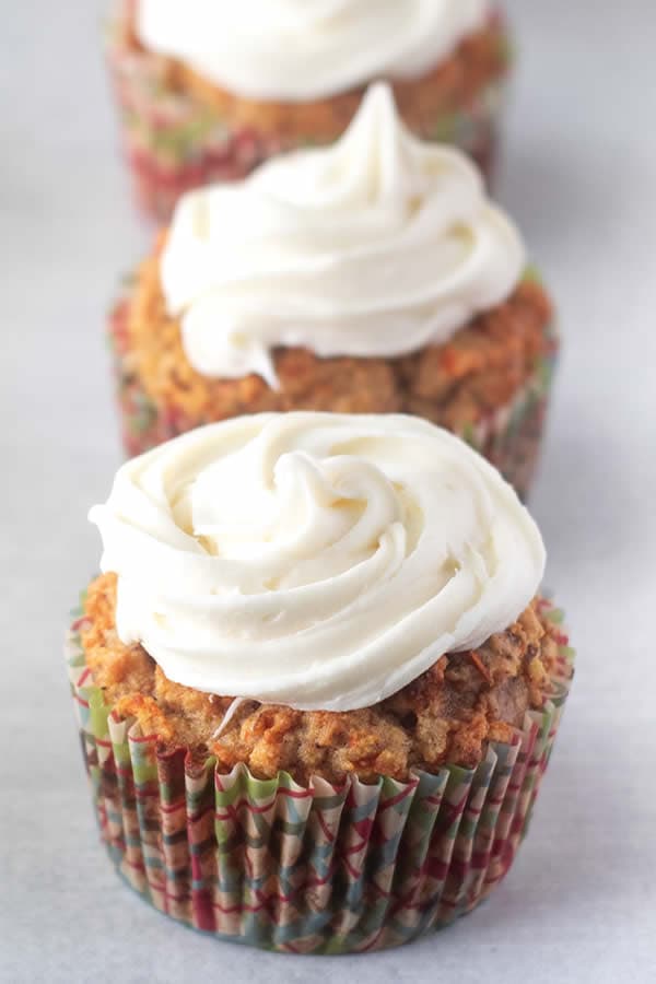
[[[139,0],[137,34],[242,96],[303,102],[421,75],[489,12],[489,0]]]

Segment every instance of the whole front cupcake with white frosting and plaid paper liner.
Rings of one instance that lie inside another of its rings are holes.
[[[401,415],[136,458],[70,634],[103,839],[157,909],[291,952],[406,942],[507,871],[572,675],[539,531]]]

